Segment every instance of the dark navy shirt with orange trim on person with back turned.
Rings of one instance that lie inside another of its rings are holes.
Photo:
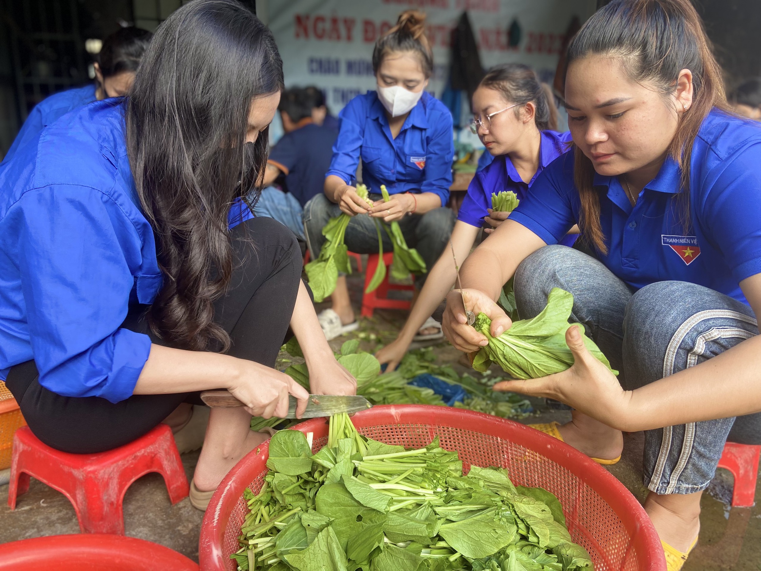
[[[269,151],[269,162],[285,174],[285,190],[302,207],[323,192],[337,134],[329,127],[307,123],[285,133]]]

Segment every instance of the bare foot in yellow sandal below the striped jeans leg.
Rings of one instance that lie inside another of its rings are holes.
[[[648,512],[661,541],[683,553],[689,550],[700,532],[701,495],[702,492],[666,496],[648,494],[645,512]]]

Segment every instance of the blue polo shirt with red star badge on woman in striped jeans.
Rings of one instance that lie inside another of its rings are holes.
[[[578,223],[573,152],[547,167],[510,219],[546,244]],[[761,273],[761,125],[713,110],[690,162],[689,220],[683,228],[680,169],[672,158],[632,207],[618,177],[595,175],[607,268],[633,289],[653,282],[696,283],[747,303],[738,283]],[[689,299],[685,300],[689,303]]]

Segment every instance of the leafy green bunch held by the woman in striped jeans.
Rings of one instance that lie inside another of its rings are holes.
[[[489,345],[479,349],[473,359],[476,371],[486,371],[496,362],[512,378],[538,378],[565,371],[573,365],[573,354],[565,343],[565,331],[573,308],[573,295],[559,288],[549,292],[546,308],[533,319],[515,321],[512,327],[499,337],[492,337],[489,327],[492,321],[486,314],[478,314],[473,327],[486,336]],[[581,336],[584,345],[600,362],[610,369],[610,362],[597,348],[594,341]],[[618,375],[618,371],[613,371]]]

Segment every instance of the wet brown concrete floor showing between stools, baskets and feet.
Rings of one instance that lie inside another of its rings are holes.
[[[361,278],[355,274],[350,276],[349,282],[352,301],[358,308]],[[320,305],[320,309],[324,307],[327,305]],[[362,349],[373,351],[378,344],[393,340],[405,317],[406,313],[402,311],[376,311],[374,317],[362,321],[360,330],[351,337],[361,339]],[[339,338],[331,344],[338,349],[351,337]],[[465,371],[457,364],[460,353],[448,343],[436,345],[435,353],[442,364],[451,363],[460,372]],[[551,420],[564,423],[570,419],[568,411],[537,408],[540,414],[524,419],[524,423]],[[610,472],[640,501],[647,493],[642,485],[643,445],[642,432],[625,435],[622,460],[609,467]],[[188,478],[192,476],[197,460],[198,452],[183,455]],[[703,495],[699,544],[684,566],[685,571],[761,569],[761,500],[753,508],[730,508],[731,489],[731,474],[719,470],[708,493]],[[756,498],[761,499],[761,479],[756,486]],[[8,509],[7,499],[8,486],[0,486],[0,543],[79,531],[74,509],[68,500],[37,480],[32,480],[29,492],[19,497],[14,511]],[[202,518],[202,512],[193,509],[188,499],[171,506],[164,480],[158,474],[148,474],[136,481],[124,499],[127,535],[165,545],[196,561]]]

